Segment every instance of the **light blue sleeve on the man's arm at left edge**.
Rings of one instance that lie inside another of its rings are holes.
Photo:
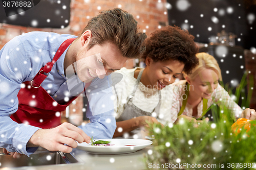
[[[30,67],[18,38],[13,38],[0,51],[0,147],[27,156],[35,150],[26,148],[27,142],[40,128],[17,124],[10,116],[18,109],[17,94]]]

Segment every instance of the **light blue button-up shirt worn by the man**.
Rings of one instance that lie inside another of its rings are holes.
[[[18,109],[17,94],[23,86],[22,83],[31,81],[42,66],[52,61],[60,44],[69,38],[77,37],[68,34],[30,32],[13,38],[0,51],[0,147],[6,148],[9,152],[23,153],[28,156],[35,151],[36,148],[26,148],[26,145],[31,136],[40,128],[17,124],[10,116]],[[49,76],[41,83],[41,87],[59,103],[63,102],[65,97],[70,96],[63,68],[67,50],[53,65]],[[96,78],[90,87],[102,84],[106,80],[109,80],[109,76],[105,76],[104,79]],[[106,99],[110,99],[112,90],[106,89],[97,94],[99,95],[88,97],[91,106],[105,104]],[[100,110],[101,114],[92,114],[92,112],[97,112],[97,109],[94,111],[89,109],[87,117],[90,118],[91,123],[79,126],[79,128],[95,139],[112,138],[116,123],[113,104],[108,106],[111,109],[108,108],[109,111],[104,113]]]

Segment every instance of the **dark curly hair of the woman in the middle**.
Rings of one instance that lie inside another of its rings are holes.
[[[145,40],[146,51],[142,58],[150,57],[154,62],[178,60],[185,64],[184,72],[189,74],[198,64],[198,47],[194,36],[177,26],[167,26],[151,34]]]

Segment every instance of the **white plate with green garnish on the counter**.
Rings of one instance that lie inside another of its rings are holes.
[[[132,153],[132,152],[141,150],[153,143],[150,140],[144,140],[144,139],[98,139],[98,140],[111,141],[111,144],[115,144],[115,145],[108,146],[108,147],[95,147],[86,142],[83,142],[83,143],[78,143],[77,149],[87,151],[88,153],[92,153],[92,154],[126,154],[126,153]],[[133,145],[133,146],[125,147],[125,145]]]

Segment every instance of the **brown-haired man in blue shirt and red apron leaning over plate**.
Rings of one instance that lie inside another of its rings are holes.
[[[77,147],[77,142],[89,143],[91,136],[112,138],[116,128],[112,89],[88,91],[89,124],[60,125],[61,111],[83,89],[95,89],[109,82],[110,77],[104,76],[107,72],[120,69],[128,57],[138,57],[144,52],[146,36],[134,29],[137,22],[131,14],[114,9],[103,11],[95,18],[108,21],[89,22],[79,37],[30,32],[13,38],[1,49],[0,147],[5,148],[6,154],[29,156],[38,146],[69,153]],[[110,27],[111,22],[117,28]],[[120,31],[123,27],[127,29]],[[94,57],[90,59],[90,56]],[[103,70],[97,67],[99,64]],[[76,96],[68,86],[68,81],[74,82],[68,77],[69,66],[73,66],[75,78],[84,82]]]

